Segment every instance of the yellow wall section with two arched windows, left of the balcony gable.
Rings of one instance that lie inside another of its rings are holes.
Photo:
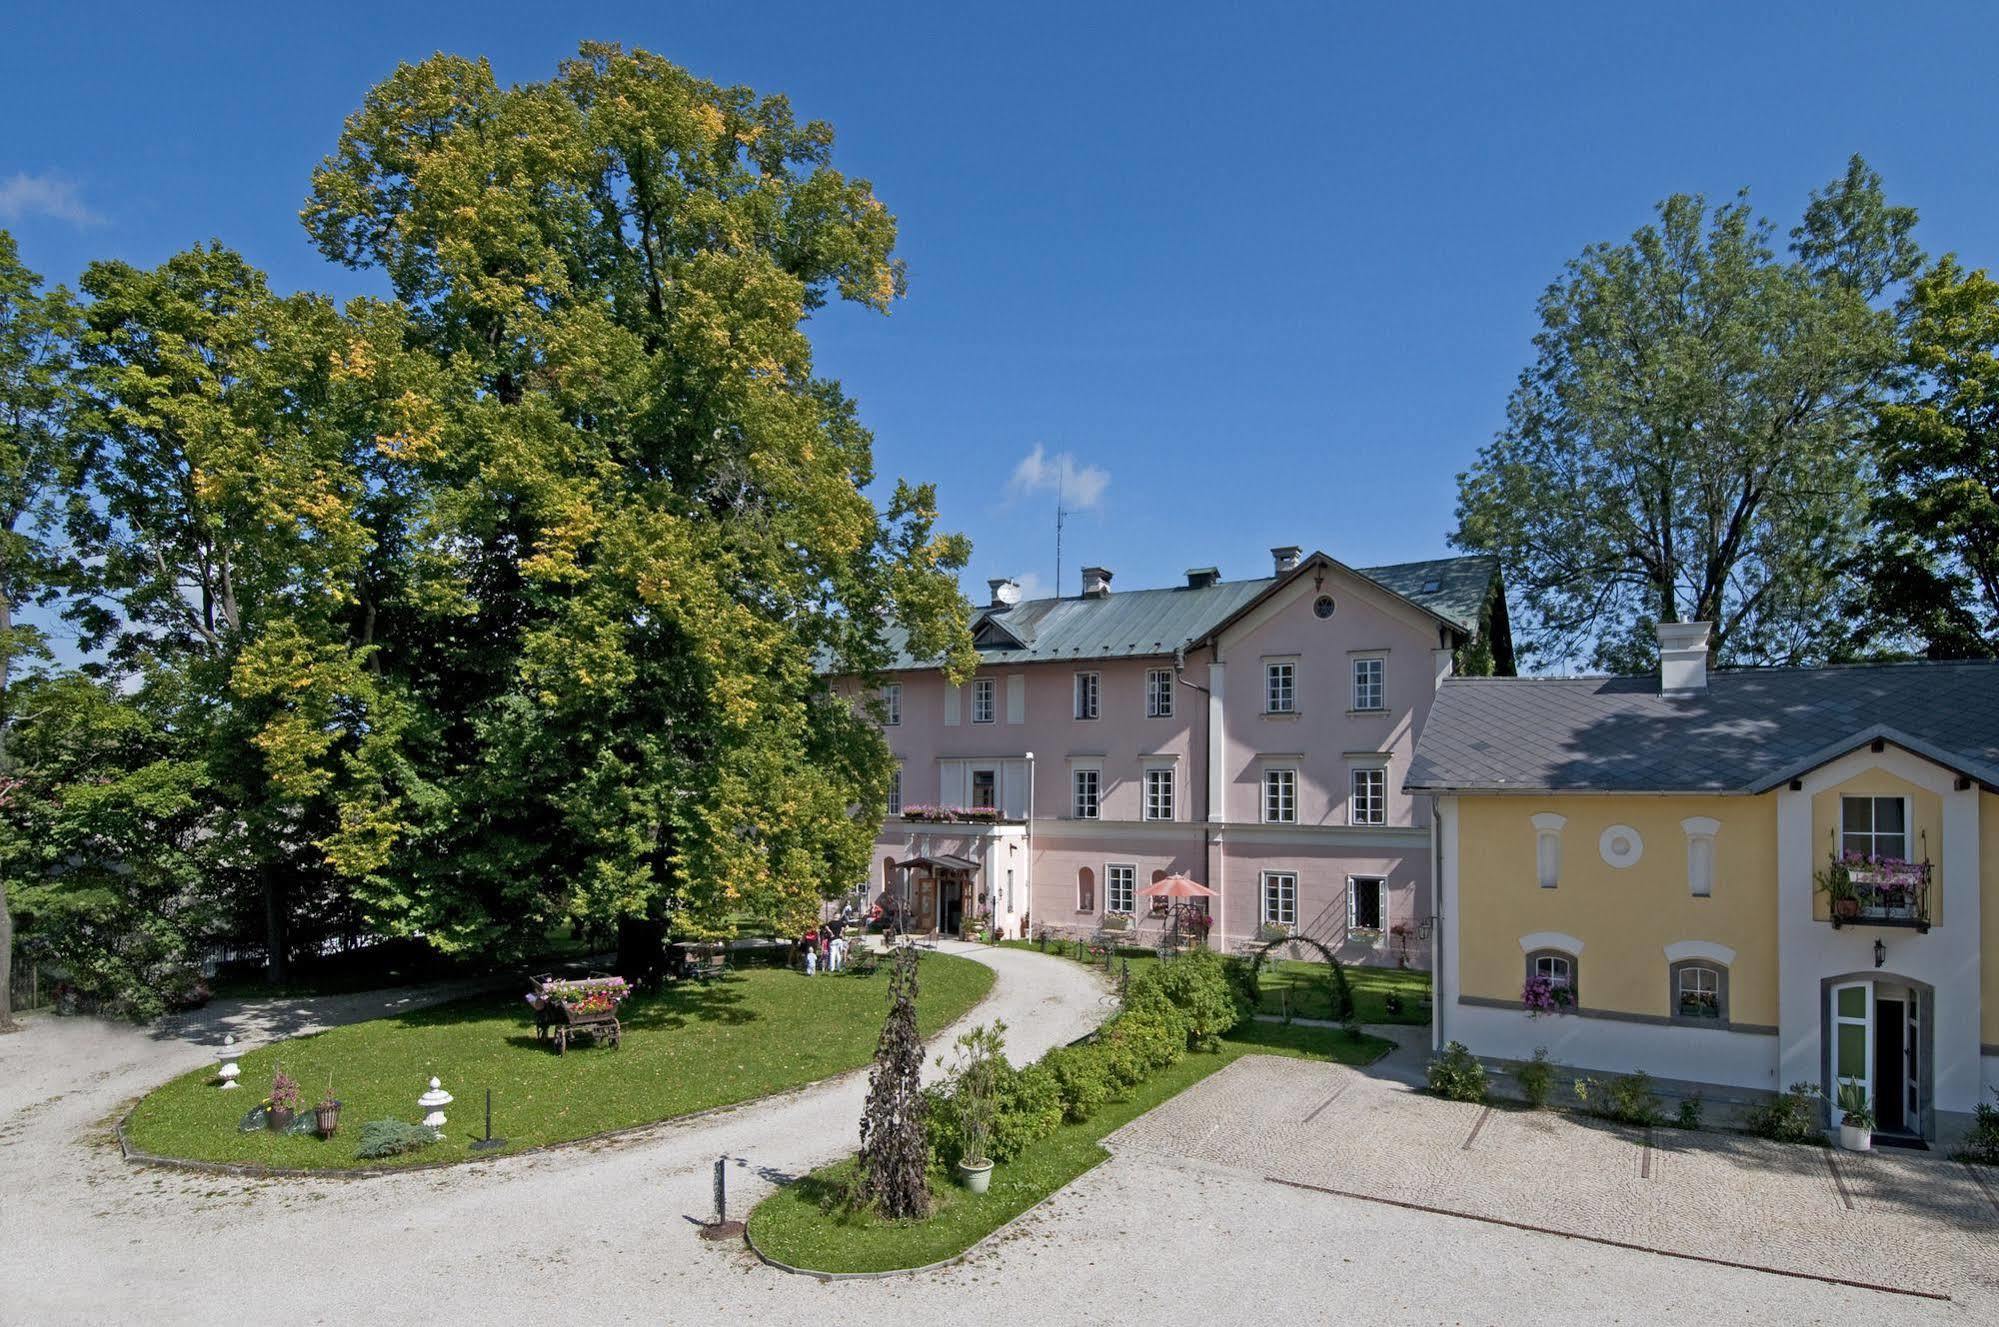
[[[1457,911],[1461,991],[1519,999],[1519,937],[1563,931],[1583,941],[1585,1009],[1669,1015],[1665,945],[1707,939],[1735,949],[1729,1021],[1777,1023],[1777,797],[1459,797]],[[1535,877],[1531,817],[1553,811],[1561,829],[1561,883]],[[1705,815],[1715,833],[1715,891],[1687,889],[1687,835]],[[1597,839],[1629,825],[1645,843],[1637,865],[1603,861]]]

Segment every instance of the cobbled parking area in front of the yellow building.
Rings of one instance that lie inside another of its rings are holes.
[[[1999,1303],[1999,1185],[1981,1187],[1933,1153],[1487,1109],[1267,1055],[1235,1061],[1109,1145],[1663,1253]]]

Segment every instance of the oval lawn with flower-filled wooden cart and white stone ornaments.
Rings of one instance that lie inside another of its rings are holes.
[[[942,953],[926,953],[920,975],[926,1037],[980,1003],[994,983],[990,967]],[[476,1155],[468,1145],[480,1135],[488,1087],[494,1133],[508,1139],[508,1151],[562,1143],[864,1065],[886,1001],[888,967],[874,977],[748,967],[710,985],[628,999],[620,1009],[624,1045],[586,1041],[558,1057],[536,1043],[534,1011],[520,993],[482,995],[256,1049],[242,1059],[248,1091],[214,1087],[214,1067],[178,1077],[138,1103],[130,1137],[142,1151],[194,1161],[312,1169],[466,1161]],[[238,1131],[242,1115],[270,1091],[278,1061],[298,1079],[308,1109],[332,1073],[342,1101],[336,1137]],[[446,1107],[444,1139],[388,1161],[358,1159],[362,1123],[420,1119],[416,1097],[432,1075],[458,1097]]]

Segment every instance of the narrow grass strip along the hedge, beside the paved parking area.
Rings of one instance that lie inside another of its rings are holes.
[[[1111,1101],[1093,1119],[1061,1125],[1049,1137],[994,1169],[992,1189],[968,1193],[944,1171],[932,1171],[938,1199],[926,1221],[882,1221],[844,1209],[854,1161],[840,1161],[778,1189],[750,1213],[750,1237],[770,1257],[812,1271],[894,1271],[924,1267],[964,1253],[1043,1197],[1105,1157],[1101,1139],[1151,1107],[1193,1087],[1243,1055],[1293,1055],[1347,1065],[1369,1063],[1389,1049],[1379,1037],[1349,1041],[1325,1027],[1243,1023],[1213,1053],[1189,1053],[1161,1069],[1125,1101]]]

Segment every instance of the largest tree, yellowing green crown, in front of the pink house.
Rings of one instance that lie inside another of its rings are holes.
[[[780,96],[590,44],[512,88],[404,66],[314,172],[308,232],[388,274],[440,366],[412,434],[436,592],[376,634],[422,789],[362,881],[386,925],[788,923],[864,873],[890,759],[826,677],[890,628],[968,667],[968,546],[930,488],[870,502],[872,440],[814,374],[816,308],[904,288],[894,218],[830,162]]]

